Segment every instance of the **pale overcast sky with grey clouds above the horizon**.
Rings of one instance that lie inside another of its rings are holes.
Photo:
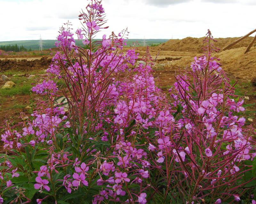
[[[71,3],[72,2],[72,3]],[[74,32],[86,0],[0,0],[0,41],[54,40],[68,20]],[[128,27],[133,39],[240,37],[256,28],[256,0],[102,0],[108,29],[118,34]],[[254,33],[255,34],[255,33]],[[251,36],[254,36],[252,34]]]

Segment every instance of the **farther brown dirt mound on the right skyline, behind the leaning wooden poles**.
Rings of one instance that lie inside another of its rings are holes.
[[[223,47],[229,45],[230,43],[236,41],[240,37],[235,38],[214,38],[217,42],[213,42],[214,46],[217,48],[222,49]],[[252,42],[253,37],[246,37],[244,40],[238,42],[230,49],[240,48],[240,47],[247,47],[250,42]],[[193,53],[202,53],[204,37],[201,38],[192,38],[187,37],[182,40],[174,39],[169,40],[161,45],[158,46],[161,50],[170,50],[170,51],[183,51],[183,52],[193,52]],[[252,45],[255,47],[256,43]],[[245,51],[245,50],[244,50]]]

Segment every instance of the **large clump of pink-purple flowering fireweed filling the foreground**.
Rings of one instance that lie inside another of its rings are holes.
[[[81,12],[81,46],[69,22],[60,29],[31,119],[22,131],[5,123],[0,204],[255,203],[255,132],[211,32],[170,101],[148,49],[138,66],[135,49],[122,51],[126,30],[93,41],[104,17],[98,1]]]

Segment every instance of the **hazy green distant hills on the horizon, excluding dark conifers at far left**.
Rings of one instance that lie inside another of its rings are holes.
[[[102,40],[102,39],[95,39],[95,40]],[[127,39],[127,46],[132,45],[133,42],[138,41],[140,44],[139,46],[143,46],[143,40],[144,39]],[[146,39],[145,43],[146,46],[156,46],[159,44],[162,44],[169,39]],[[77,40],[76,40],[77,41]],[[55,48],[54,43],[56,40],[43,40],[43,49],[49,49],[49,48]],[[81,41],[78,41],[81,42]],[[32,50],[39,50],[39,41],[38,40],[23,40],[23,41],[3,41],[0,42],[0,46],[7,46],[7,45],[16,45],[18,47],[23,46],[26,49],[32,49]]]

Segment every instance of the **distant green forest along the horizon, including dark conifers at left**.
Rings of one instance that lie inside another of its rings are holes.
[[[95,39],[102,41],[102,39]],[[126,39],[127,45],[130,46],[136,41],[140,44],[137,46],[143,46],[143,39]],[[146,46],[156,46],[161,43],[168,41],[169,39],[146,39],[145,44]],[[55,48],[54,43],[56,40],[43,40],[43,49],[50,49]],[[79,40],[78,44],[82,45],[82,41]],[[77,45],[78,45],[77,44]],[[20,51],[32,51],[32,50],[39,50],[39,41],[38,40],[24,40],[24,41],[4,41],[0,42],[0,49],[4,51],[13,51],[13,52],[20,52]]]

